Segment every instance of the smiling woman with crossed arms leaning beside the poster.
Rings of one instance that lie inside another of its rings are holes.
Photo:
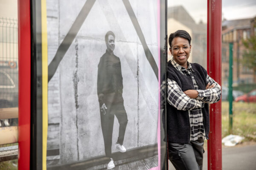
[[[204,139],[209,139],[209,103],[221,87],[197,63],[189,63],[191,37],[183,30],[169,36],[167,134],[169,159],[176,170],[202,170]]]

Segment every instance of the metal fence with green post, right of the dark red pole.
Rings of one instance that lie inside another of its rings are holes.
[[[256,73],[243,63],[247,50],[241,42],[222,42],[222,136],[256,140]]]

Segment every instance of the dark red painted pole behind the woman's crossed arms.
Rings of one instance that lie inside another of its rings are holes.
[[[221,85],[221,0],[208,1],[208,74]],[[210,105],[210,134],[209,134],[208,170],[222,169],[221,152],[221,101]]]

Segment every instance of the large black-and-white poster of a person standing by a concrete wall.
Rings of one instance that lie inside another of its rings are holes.
[[[47,169],[158,168],[159,8],[46,1]]]

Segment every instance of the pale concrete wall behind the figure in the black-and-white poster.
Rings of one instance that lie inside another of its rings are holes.
[[[47,0],[48,63],[86,0]],[[130,0],[145,41],[158,64],[157,1]],[[58,148],[58,164],[104,156],[97,72],[106,51],[105,34],[116,35],[128,124],[123,145],[134,149],[157,143],[158,81],[120,0],[96,0],[48,84],[48,146]],[[158,66],[159,67],[159,66]],[[119,124],[114,120],[112,152]],[[47,159],[50,164],[50,158]]]

